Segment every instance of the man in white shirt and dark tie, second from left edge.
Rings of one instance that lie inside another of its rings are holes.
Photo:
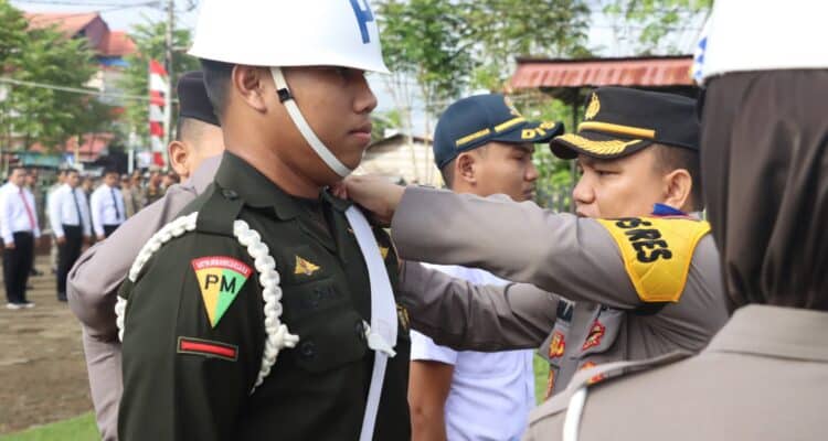
[[[66,301],[66,276],[78,257],[84,241],[92,236],[86,195],[78,189],[77,170],[66,172],[65,183],[49,197],[49,220],[57,243],[57,300]]]

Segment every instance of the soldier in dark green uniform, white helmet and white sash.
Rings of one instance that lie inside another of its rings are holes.
[[[411,437],[396,256],[325,190],[370,141],[379,33],[362,2],[282,6],[202,2],[227,151],[119,292],[124,441]]]

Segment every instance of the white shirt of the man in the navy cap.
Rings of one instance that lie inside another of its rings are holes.
[[[491,273],[457,266],[425,265],[475,284],[508,283]],[[411,332],[411,359],[454,365],[446,398],[446,435],[455,440],[520,440],[534,407],[534,351],[474,352],[439,346]]]

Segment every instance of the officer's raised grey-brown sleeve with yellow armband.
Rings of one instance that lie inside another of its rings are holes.
[[[688,348],[726,320],[708,230],[692,219],[578,218],[502,195],[424,187],[406,189],[391,228],[406,260],[484,268],[576,302],[645,314],[664,308],[654,315],[661,332]]]

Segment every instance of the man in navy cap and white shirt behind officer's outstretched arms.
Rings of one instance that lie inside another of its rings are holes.
[[[560,125],[527,121],[502,95],[478,95],[449,106],[434,133],[434,159],[457,193],[532,198],[535,142]],[[475,284],[507,284],[473,268],[429,266]],[[534,407],[533,351],[454,351],[411,332],[408,404],[413,440],[518,440]]]

